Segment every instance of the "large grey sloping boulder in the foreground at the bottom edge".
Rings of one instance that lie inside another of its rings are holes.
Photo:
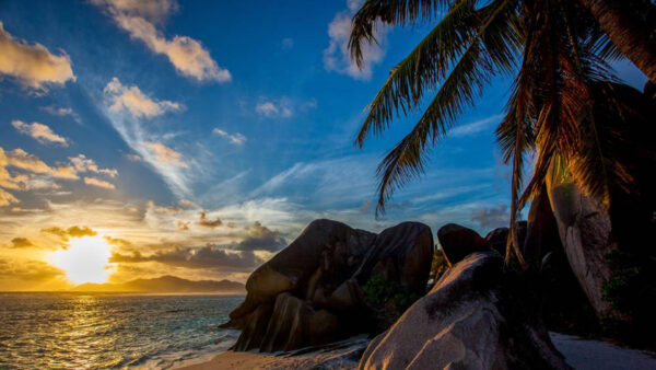
[[[497,253],[475,252],[372,340],[360,369],[567,369],[525,296]]]

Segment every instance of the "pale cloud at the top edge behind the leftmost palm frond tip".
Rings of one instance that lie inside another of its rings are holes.
[[[349,11],[339,12],[328,24],[328,47],[324,50],[324,68],[341,74],[348,74],[355,80],[368,80],[372,77],[373,66],[383,61],[385,49],[380,47],[386,42],[387,27],[382,23],[376,24],[376,39],[378,43],[363,45],[363,66],[358,68],[355,61],[351,60],[349,53],[349,37],[351,30],[351,16],[355,13],[360,1],[348,1]]]

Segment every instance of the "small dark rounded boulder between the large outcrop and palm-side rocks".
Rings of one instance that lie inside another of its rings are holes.
[[[490,244],[476,231],[455,223],[437,230],[437,240],[449,266],[462,261],[473,252],[489,251]]]

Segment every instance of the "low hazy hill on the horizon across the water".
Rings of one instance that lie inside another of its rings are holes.
[[[86,282],[72,291],[121,291],[148,293],[245,293],[245,286],[231,280],[187,280],[175,276],[161,276],[153,279],[137,279],[121,284]]]

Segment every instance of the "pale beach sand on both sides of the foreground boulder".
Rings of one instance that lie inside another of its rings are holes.
[[[555,347],[574,369],[656,369],[656,355],[636,349],[622,348],[600,340],[551,333]],[[309,352],[297,356],[276,356],[254,352],[227,351],[212,360],[179,368],[185,370],[209,369],[358,369],[362,345],[348,348]]]

